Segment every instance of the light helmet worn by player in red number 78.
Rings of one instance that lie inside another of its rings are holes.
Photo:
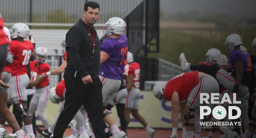
[[[16,23],[12,26],[12,38],[23,37],[27,38],[29,35],[29,27],[25,23]]]

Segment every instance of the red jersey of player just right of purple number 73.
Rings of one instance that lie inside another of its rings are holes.
[[[133,86],[140,88],[140,64],[136,62],[130,63],[128,75],[133,75]]]

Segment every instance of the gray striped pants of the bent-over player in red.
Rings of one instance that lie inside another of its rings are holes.
[[[210,104],[200,104],[200,93],[207,93],[210,95],[208,99]],[[205,76],[198,80],[198,84],[192,89],[187,97],[187,105],[189,108],[197,109],[200,106],[209,106],[211,109],[214,104],[211,104],[211,93],[219,93],[219,84],[212,76]]]

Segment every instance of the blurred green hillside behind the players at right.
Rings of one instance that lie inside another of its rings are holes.
[[[184,53],[188,62],[198,64],[205,61],[205,54],[210,48],[219,49],[229,57],[225,49],[225,40],[229,34],[239,34],[243,45],[251,52],[251,43],[256,37],[256,30],[174,30],[160,29],[160,52],[149,53],[149,57],[162,58],[175,64],[180,64],[180,53]]]

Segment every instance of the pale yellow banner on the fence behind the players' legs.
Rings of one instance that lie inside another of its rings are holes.
[[[47,117],[49,124],[52,124],[57,113],[59,112],[59,104],[54,104],[50,100],[47,103],[45,116]],[[10,108],[12,111],[12,108]],[[142,115],[147,123],[153,128],[172,128],[171,119],[171,102],[165,103],[164,101],[159,101],[155,98],[152,91],[141,91],[139,100],[139,110],[138,112]],[[112,114],[118,126],[120,126],[120,121],[117,115],[116,107],[112,108]],[[42,125],[42,122],[37,117],[37,125]],[[179,119],[179,128],[182,128],[181,121]],[[7,123],[6,123],[7,124]],[[128,127],[140,127],[143,128],[132,115]]]

